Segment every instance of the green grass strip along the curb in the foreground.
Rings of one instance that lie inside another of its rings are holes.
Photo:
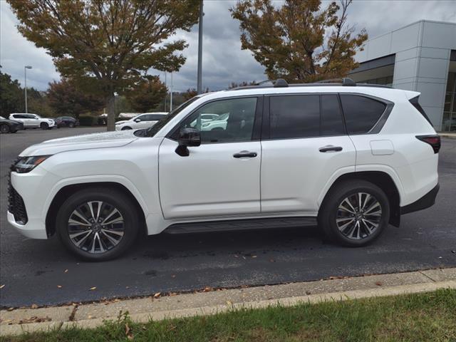
[[[130,338],[125,334],[128,325]],[[245,309],[215,316],[31,333],[0,341],[456,341],[456,290]]]

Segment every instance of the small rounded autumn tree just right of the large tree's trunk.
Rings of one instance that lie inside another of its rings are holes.
[[[147,76],[128,95],[133,110],[145,113],[165,99],[167,88],[158,76]]]

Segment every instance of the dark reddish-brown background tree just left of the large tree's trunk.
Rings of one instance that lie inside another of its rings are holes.
[[[103,109],[104,101],[98,95],[83,92],[68,78],[49,83],[48,103],[59,115],[79,115]]]

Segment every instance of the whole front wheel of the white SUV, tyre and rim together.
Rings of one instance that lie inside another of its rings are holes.
[[[81,190],[62,204],[56,230],[63,245],[79,258],[114,259],[135,241],[138,212],[133,202],[118,190]]]

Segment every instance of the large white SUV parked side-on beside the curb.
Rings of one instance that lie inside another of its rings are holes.
[[[418,95],[277,80],[198,95],[147,130],[48,140],[11,166],[8,220],[89,260],[140,232],[318,224],[363,246],[434,204],[440,138]],[[202,130],[205,113],[226,125]]]

